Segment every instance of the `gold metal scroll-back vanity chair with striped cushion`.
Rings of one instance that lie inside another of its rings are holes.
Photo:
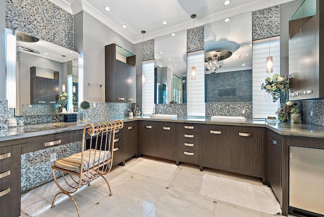
[[[54,161],[51,167],[56,185],[61,190],[54,196],[52,207],[59,194],[65,194],[73,201],[77,215],[80,216],[76,201],[71,196],[79,188],[88,185],[92,180],[102,177],[112,195],[108,180],[105,178],[112,167],[115,130],[124,127],[121,120],[106,123],[86,124],[83,129],[82,152]],[[88,138],[88,139],[87,139]],[[64,185],[58,183],[55,170],[61,171]],[[67,176],[67,177],[66,177]]]

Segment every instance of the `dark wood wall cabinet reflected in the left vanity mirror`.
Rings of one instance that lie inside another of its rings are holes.
[[[43,77],[44,76],[44,77]],[[59,72],[30,67],[30,103],[57,104]]]

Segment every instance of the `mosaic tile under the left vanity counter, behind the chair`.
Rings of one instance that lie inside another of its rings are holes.
[[[64,158],[81,152],[82,142],[72,142],[62,146],[39,150],[21,155],[21,192],[26,192],[37,186],[53,180],[50,154],[56,153],[57,158]],[[56,171],[57,176],[61,176]]]

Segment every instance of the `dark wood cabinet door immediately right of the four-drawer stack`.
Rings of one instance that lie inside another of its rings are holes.
[[[201,160],[204,164],[229,167],[228,128],[221,125],[203,126],[204,142]]]

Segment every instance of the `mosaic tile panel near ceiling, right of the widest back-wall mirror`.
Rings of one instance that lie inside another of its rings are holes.
[[[280,35],[280,6],[252,12],[252,40]]]

